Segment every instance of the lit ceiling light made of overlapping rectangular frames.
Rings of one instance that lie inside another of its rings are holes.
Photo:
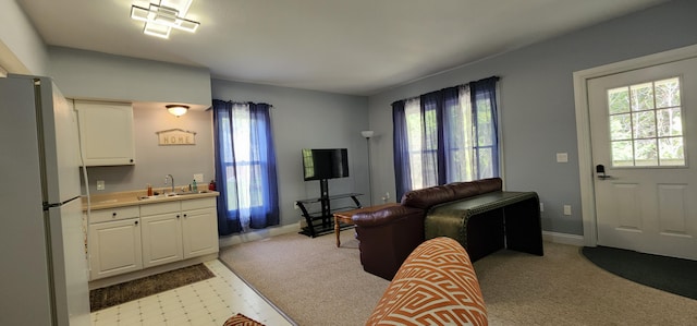
[[[172,28],[196,32],[198,22],[187,20],[186,12],[193,0],[152,1],[148,8],[131,5],[131,17],[145,22],[143,33],[150,36],[169,38]]]

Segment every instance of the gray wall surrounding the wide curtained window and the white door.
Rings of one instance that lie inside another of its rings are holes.
[[[375,191],[394,192],[391,102],[498,75],[505,188],[538,192],[545,230],[583,234],[573,72],[696,44],[696,13],[697,1],[672,1],[371,96]]]

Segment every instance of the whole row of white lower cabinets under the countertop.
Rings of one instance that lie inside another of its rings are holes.
[[[91,280],[216,253],[216,197],[94,210],[88,250]]]

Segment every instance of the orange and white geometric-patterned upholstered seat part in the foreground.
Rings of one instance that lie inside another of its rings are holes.
[[[488,325],[477,275],[450,238],[421,243],[404,261],[366,325]]]

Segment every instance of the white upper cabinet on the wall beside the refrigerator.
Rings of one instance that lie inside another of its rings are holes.
[[[130,104],[75,101],[85,166],[135,164],[133,107]]]

